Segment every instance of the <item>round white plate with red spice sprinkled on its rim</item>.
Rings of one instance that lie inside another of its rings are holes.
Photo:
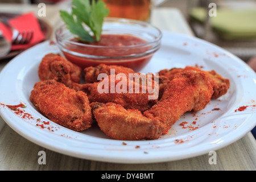
[[[96,123],[83,132],[65,129],[51,121],[44,125],[43,121],[49,120],[35,109],[29,97],[35,82],[39,81],[39,63],[49,52],[60,51],[49,42],[32,47],[10,61],[0,76],[2,118],[24,138],[49,150],[102,162],[168,162],[218,150],[240,139],[256,125],[254,71],[236,56],[213,44],[166,31],[163,32],[162,47],[141,72],[158,72],[188,65],[197,65],[204,70],[214,69],[230,80],[231,86],[225,96],[212,100],[197,113],[185,113],[167,135],[157,140],[113,140],[106,137]],[[34,119],[22,118],[4,106],[20,102],[27,106],[22,109]],[[244,111],[236,111],[240,106],[248,107]],[[188,126],[185,129],[180,126],[184,121]],[[43,129],[40,125],[46,127]]]

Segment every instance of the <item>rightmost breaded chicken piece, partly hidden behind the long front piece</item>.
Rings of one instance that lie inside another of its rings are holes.
[[[210,83],[212,84],[213,91],[214,91],[213,95],[212,95],[212,99],[221,97],[228,92],[228,89],[230,87],[229,80],[222,77],[221,75],[216,73],[216,71],[214,71],[214,70],[203,71],[197,67],[172,68],[170,70],[163,69],[162,71],[159,72],[159,76],[166,76],[170,80],[172,80],[177,73],[180,73],[184,70],[193,70],[193,71],[199,71],[199,72],[202,71],[205,73],[205,75],[207,75],[209,77]]]

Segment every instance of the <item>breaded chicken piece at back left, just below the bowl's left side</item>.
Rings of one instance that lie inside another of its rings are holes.
[[[48,53],[43,57],[38,75],[40,80],[56,80],[66,86],[80,83],[82,69],[62,56]]]

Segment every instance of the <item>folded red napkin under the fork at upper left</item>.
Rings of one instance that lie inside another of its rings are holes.
[[[33,13],[22,14],[22,15],[16,16],[15,18],[9,19],[9,24],[15,27],[20,32],[26,31],[26,30],[34,31],[34,35],[30,43],[12,45],[11,50],[27,49],[45,39],[45,36],[40,28],[38,19],[35,17]],[[5,38],[11,42],[11,38],[13,36],[11,29],[7,27],[5,24],[0,22],[0,30],[2,30]]]

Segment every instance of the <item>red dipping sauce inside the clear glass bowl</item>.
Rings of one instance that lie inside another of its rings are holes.
[[[72,63],[85,67],[98,64],[122,65],[140,71],[150,61],[153,53],[152,44],[131,35],[101,35],[100,42],[65,44],[64,56]]]

